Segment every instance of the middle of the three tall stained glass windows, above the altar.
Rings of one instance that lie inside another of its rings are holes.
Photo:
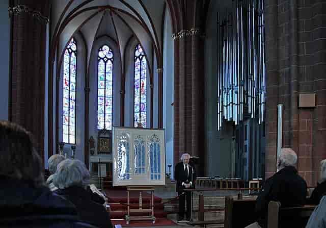
[[[97,129],[112,130],[113,52],[106,44],[98,50],[97,69]]]

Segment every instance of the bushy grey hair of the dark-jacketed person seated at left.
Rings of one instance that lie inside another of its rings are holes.
[[[77,159],[66,159],[58,165],[53,176],[53,184],[60,188],[71,186],[86,187],[90,182],[90,172],[85,164]]]

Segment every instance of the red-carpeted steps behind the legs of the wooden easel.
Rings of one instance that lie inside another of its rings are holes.
[[[127,188],[113,187],[113,188],[105,189],[104,191],[106,196],[108,197],[108,203],[110,204],[111,219],[124,219],[124,216],[127,214]],[[149,209],[151,195],[146,192],[143,192],[142,199],[143,199],[143,209]],[[163,211],[164,205],[161,203],[161,201],[162,199],[160,197],[154,196],[154,216],[156,218],[167,217],[167,213]],[[130,208],[132,209],[139,208],[139,192],[135,192],[135,191],[130,192]],[[131,216],[148,216],[149,214],[150,214],[149,212],[130,213]]]

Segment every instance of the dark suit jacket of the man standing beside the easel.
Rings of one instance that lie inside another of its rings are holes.
[[[177,192],[180,192],[183,189],[185,189],[185,187],[182,186],[182,182],[188,184],[189,182],[192,181],[191,188],[195,188],[196,171],[194,166],[189,165],[189,174],[187,176],[186,172],[184,171],[183,162],[178,163],[174,169],[174,179],[177,181],[177,186],[176,186]]]

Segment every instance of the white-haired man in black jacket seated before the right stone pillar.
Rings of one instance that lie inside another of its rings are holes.
[[[302,206],[306,201],[307,184],[297,173],[297,156],[290,148],[282,148],[277,159],[277,173],[268,178],[259,192],[255,213],[258,223],[247,227],[266,227],[269,201],[279,201],[282,207]]]

